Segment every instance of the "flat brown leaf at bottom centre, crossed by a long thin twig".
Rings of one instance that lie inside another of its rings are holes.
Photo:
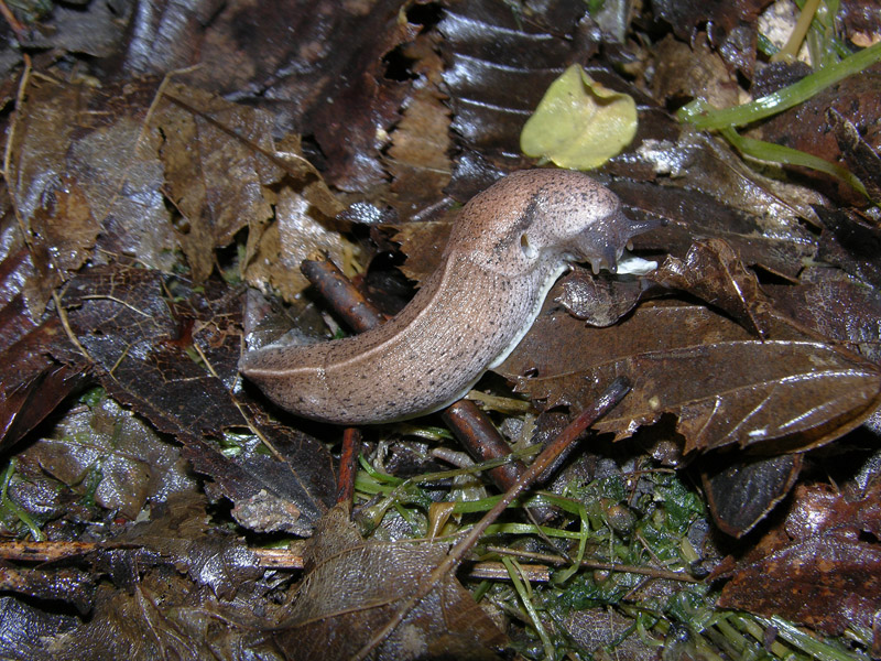
[[[446,555],[432,542],[365,541],[333,508],[304,551],[306,576],[280,622],[286,659],[350,659]],[[422,599],[371,659],[497,659],[504,635],[452,576]]]

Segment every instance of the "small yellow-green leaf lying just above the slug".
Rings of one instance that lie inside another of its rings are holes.
[[[596,83],[574,64],[547,88],[520,134],[527,156],[591,170],[618,154],[637,132],[637,104]]]

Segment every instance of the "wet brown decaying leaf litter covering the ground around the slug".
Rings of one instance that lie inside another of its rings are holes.
[[[356,528],[340,431],[242,384],[242,327],[345,332],[298,293],[316,248],[393,314],[458,206],[534,163],[521,129],[573,63],[635,101],[595,175],[666,221],[634,241],[661,267],[568,275],[479,401],[527,465],[611,377],[633,389],[367,651],[881,654],[877,8],[808,7],[784,46],[777,2],[134,7],[2,28],[4,655],[286,658],[381,630],[383,586],[443,562],[503,459],[471,466],[439,420],[365,429]],[[707,108],[746,95],[787,109]],[[557,518],[537,535],[523,505]]]

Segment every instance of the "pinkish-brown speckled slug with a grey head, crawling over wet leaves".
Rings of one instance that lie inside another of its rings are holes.
[[[269,345],[239,370],[283,409],[338,424],[414,418],[460,399],[532,325],[569,262],[618,268],[631,237],[654,227],[579,172],[526,170],[466,204],[440,266],[391,321],[345,339]],[[632,258],[630,272],[652,262]]]

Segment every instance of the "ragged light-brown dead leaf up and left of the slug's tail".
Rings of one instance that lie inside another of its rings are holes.
[[[341,239],[320,223],[327,225],[341,205],[322,189],[317,172],[298,154],[298,143],[276,147],[268,113],[168,85],[150,126],[164,139],[160,155],[166,194],[183,216],[177,237],[197,282],[214,269],[215,249],[232,242],[246,226],[251,228],[246,278],[252,283],[270,280],[286,297],[306,286],[297,267],[311,248],[324,246],[341,256]],[[285,176],[290,181],[282,185]],[[273,210],[278,234],[268,237]],[[267,260],[267,251],[295,261],[293,270],[282,260]],[[273,266],[270,273],[261,268],[267,263]]]

